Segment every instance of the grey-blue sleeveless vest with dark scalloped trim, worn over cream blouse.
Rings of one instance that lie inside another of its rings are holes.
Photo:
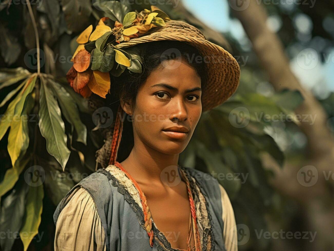
[[[183,168],[188,178],[194,177],[199,184],[201,192],[207,201],[209,220],[211,224],[211,239],[213,239],[210,250],[225,251],[223,240],[223,220],[221,194],[218,181],[212,176],[209,180],[198,178],[204,173],[193,168]],[[65,207],[66,199],[77,187],[85,188],[92,196],[98,210],[102,226],[105,232],[105,241],[108,251],[160,251],[165,250],[156,240],[153,240],[153,247],[149,244],[149,237],[146,230],[139,224],[144,219],[144,214],[139,205],[134,201],[128,191],[118,184],[118,180],[105,169],[99,169],[95,173],[82,179],[75,185],[58,204],[53,215],[56,224],[60,211]],[[154,236],[163,243],[168,250],[170,243],[161,232],[152,225]],[[203,251],[206,248],[204,247]]]

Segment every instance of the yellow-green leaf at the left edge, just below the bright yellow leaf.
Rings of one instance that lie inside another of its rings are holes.
[[[23,169],[26,167],[31,156],[18,160],[15,162],[15,166],[7,169],[5,176],[0,183],[0,197],[6,194],[10,189],[13,188]]]

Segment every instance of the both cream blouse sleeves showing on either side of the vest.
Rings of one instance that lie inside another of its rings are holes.
[[[224,244],[227,251],[237,251],[233,208],[225,189],[221,185],[219,187],[223,208]],[[104,229],[91,195],[81,187],[74,190],[67,200],[69,202],[60,212],[57,220],[54,250],[106,250]]]

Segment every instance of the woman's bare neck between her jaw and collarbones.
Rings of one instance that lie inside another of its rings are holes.
[[[161,153],[144,142],[135,141],[134,147],[127,159],[121,165],[138,183],[160,182],[162,170],[168,166],[177,166],[179,154]]]

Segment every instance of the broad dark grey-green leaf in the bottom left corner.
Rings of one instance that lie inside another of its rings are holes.
[[[0,231],[2,233],[7,231],[11,231],[12,234],[18,233],[21,229],[27,192],[28,184],[22,177],[12,190],[1,198]],[[1,250],[12,250],[14,241],[15,238],[0,238]]]

